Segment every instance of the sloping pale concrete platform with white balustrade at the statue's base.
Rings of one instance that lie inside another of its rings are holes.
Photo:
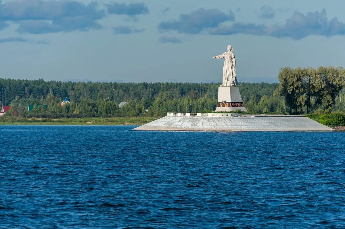
[[[170,114],[170,115],[169,115]],[[176,114],[176,115],[175,115]],[[182,116],[180,114],[183,114]],[[207,115],[206,115],[207,114]],[[335,131],[305,116],[168,113],[133,130],[142,131]],[[203,116],[201,116],[203,115]],[[231,116],[233,115],[233,116]]]

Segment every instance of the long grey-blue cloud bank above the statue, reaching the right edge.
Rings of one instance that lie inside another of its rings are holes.
[[[266,11],[267,13],[268,11]],[[266,18],[274,14],[264,14]],[[203,8],[190,14],[181,14],[178,20],[164,21],[158,24],[160,32],[177,31],[178,33],[198,34],[206,32],[211,35],[249,34],[272,36],[277,38],[302,39],[310,35],[334,36],[345,35],[345,24],[336,17],[328,20],[326,10],[321,12],[303,13],[295,12],[285,24],[266,26],[256,23],[234,22],[232,25],[223,25],[225,21],[234,21],[232,11],[229,14],[218,9],[205,10]]]

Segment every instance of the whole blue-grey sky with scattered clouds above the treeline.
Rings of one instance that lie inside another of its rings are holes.
[[[343,0],[0,2],[0,78],[211,83],[228,45],[239,82],[343,66]]]

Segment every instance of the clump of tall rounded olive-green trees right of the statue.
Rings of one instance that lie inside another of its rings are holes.
[[[307,113],[313,108],[322,107],[323,110],[331,109],[335,98],[345,86],[345,71],[338,67],[314,68],[282,68],[278,75],[279,86],[275,91],[276,96],[283,96],[285,105],[297,113]],[[314,102],[313,102],[314,101]]]

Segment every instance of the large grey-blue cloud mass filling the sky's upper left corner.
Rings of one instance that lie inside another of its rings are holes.
[[[0,29],[2,23],[18,22],[18,33],[56,33],[88,31],[102,28],[97,20],[105,11],[97,3],[80,3],[74,0],[17,0],[0,4]]]

